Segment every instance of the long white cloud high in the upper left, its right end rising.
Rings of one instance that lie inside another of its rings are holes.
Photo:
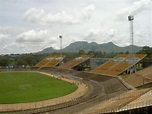
[[[23,19],[29,22],[38,23],[45,26],[54,24],[79,24],[91,18],[94,5],[89,5],[75,14],[67,14],[65,11],[60,13],[47,13],[44,9],[31,8],[27,10]]]

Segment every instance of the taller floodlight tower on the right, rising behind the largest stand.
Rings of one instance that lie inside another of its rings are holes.
[[[131,37],[131,45],[132,45],[132,49],[131,49],[132,55],[134,54],[134,50],[133,50],[133,45],[134,45],[133,20],[134,20],[134,16],[133,15],[129,15],[128,16],[128,21],[130,21],[130,37]]]

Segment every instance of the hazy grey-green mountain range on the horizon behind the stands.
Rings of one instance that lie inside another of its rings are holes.
[[[142,47],[133,46],[133,51],[138,52],[141,50]],[[84,50],[85,52],[88,51],[104,51],[107,53],[110,52],[132,52],[132,46],[120,47],[115,45],[113,42],[108,42],[104,44],[98,44],[96,42],[88,43],[86,41],[78,41],[71,43],[69,46],[63,48],[62,52],[79,52],[79,50]],[[55,50],[52,47],[46,48],[41,51],[41,53],[52,53],[52,52],[59,52],[60,50]]]

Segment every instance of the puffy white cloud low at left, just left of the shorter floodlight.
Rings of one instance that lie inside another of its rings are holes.
[[[30,30],[17,36],[16,45],[24,52],[40,51],[47,47],[59,48],[59,38],[51,35],[49,30]],[[8,45],[9,48],[11,45]]]

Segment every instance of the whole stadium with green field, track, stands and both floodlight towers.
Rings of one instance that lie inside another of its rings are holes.
[[[128,17],[133,25],[133,16]],[[2,114],[149,114],[152,109],[152,66],[146,53],[67,59],[62,52],[32,68],[0,70]],[[62,50],[62,36],[59,36]]]

